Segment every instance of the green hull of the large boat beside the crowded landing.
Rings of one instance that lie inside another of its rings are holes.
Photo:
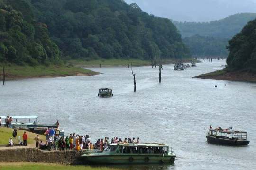
[[[176,155],[82,155],[89,164],[174,164]]]

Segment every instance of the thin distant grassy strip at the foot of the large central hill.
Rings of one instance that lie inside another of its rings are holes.
[[[195,59],[166,59],[166,61],[163,60],[163,64],[170,64],[175,63],[178,61],[182,62],[190,62],[190,61],[197,61]],[[98,59],[98,60],[69,60],[68,63],[78,66],[78,67],[113,67],[113,66],[123,66],[126,67],[128,64],[133,64],[133,66],[150,66],[151,61],[150,60],[140,60],[140,59]]]

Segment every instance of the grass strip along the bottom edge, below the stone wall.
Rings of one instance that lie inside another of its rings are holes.
[[[117,170],[113,168],[90,166],[67,166],[48,163],[0,163],[0,170]]]

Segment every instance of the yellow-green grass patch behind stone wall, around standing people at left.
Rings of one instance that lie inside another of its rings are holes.
[[[0,128],[0,145],[7,145],[9,142],[9,139],[12,137],[12,132],[13,129],[11,128],[5,128],[5,127],[1,127]],[[22,135],[24,133],[24,130],[17,130],[17,142],[15,142],[15,139],[13,139],[13,142],[16,144],[18,143],[18,136],[21,136],[21,140],[22,140]],[[27,144],[35,144],[34,138],[37,136],[37,134],[34,134],[32,132],[27,132]],[[13,137],[12,137],[13,138]],[[43,141],[45,141],[45,136],[39,135],[39,138],[42,139]],[[1,170],[1,169],[0,169]]]

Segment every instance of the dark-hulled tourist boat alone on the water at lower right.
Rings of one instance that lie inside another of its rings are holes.
[[[243,146],[250,143],[250,141],[247,140],[247,132],[229,129],[223,130],[221,127],[209,129],[208,134],[206,134],[207,142],[210,144],[230,146]]]

